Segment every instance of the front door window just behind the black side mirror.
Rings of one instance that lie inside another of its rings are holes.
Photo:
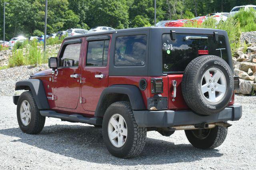
[[[66,45],[59,67],[78,67],[81,43]]]

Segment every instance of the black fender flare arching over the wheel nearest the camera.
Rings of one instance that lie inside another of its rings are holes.
[[[100,99],[98,101],[95,117],[102,117],[104,113],[102,113],[101,108],[103,106],[104,98],[106,95],[110,93],[118,93],[128,95],[130,99],[130,103],[133,110],[145,110],[144,100],[142,98],[142,94],[140,89],[135,85],[111,85],[104,89],[100,95]]]

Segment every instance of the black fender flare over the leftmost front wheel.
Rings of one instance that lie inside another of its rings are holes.
[[[18,81],[15,85],[15,90],[31,90],[38,109],[50,109],[44,85],[40,79]]]

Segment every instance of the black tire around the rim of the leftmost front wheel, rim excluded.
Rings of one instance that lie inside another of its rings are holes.
[[[31,107],[31,120],[27,126],[23,125],[20,120],[20,105],[22,104],[22,102],[24,100],[28,101],[28,103],[30,104],[30,107]],[[24,133],[38,134],[44,128],[45,117],[43,117],[40,114],[39,109],[36,105],[36,101],[35,101],[31,91],[25,91],[20,95],[20,97],[18,99],[18,103],[17,103],[17,119],[18,119],[18,124],[19,124],[20,129]]]

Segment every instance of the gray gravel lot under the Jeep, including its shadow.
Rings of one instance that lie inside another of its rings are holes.
[[[139,157],[115,158],[103,144],[101,128],[47,118],[42,132],[21,132],[11,97],[0,96],[0,169],[255,169],[256,97],[236,95],[243,105],[225,142],[213,150],[189,144],[184,131],[170,137],[148,132]]]

